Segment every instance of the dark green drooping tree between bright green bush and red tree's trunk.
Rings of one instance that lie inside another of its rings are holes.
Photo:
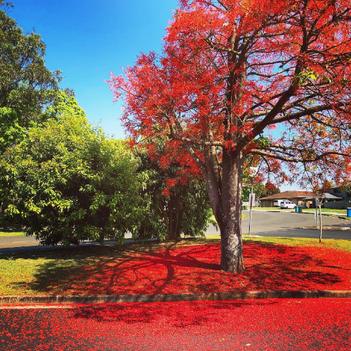
[[[162,145],[158,147],[162,149]],[[146,177],[141,190],[144,215],[134,233],[136,240],[178,240],[181,234],[203,236],[209,222],[217,226],[211,220],[211,206],[201,178],[180,176],[177,163],[161,167],[145,150],[136,155],[140,158],[138,172]]]

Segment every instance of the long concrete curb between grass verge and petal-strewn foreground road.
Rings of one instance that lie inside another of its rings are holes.
[[[273,290],[273,291],[233,291],[205,292],[199,294],[160,295],[36,295],[0,296],[0,306],[10,304],[116,304],[121,302],[166,302],[166,301],[226,301],[246,299],[310,299],[310,298],[350,299],[351,291],[341,290]]]

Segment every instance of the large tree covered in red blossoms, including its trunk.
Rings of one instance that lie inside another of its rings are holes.
[[[293,175],[347,170],[350,38],[350,0],[182,0],[162,55],[111,74],[131,136],[150,148],[169,138],[162,162],[204,176],[223,270],[244,269],[244,160],[286,162]]]

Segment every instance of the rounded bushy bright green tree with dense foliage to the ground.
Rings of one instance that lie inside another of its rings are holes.
[[[6,217],[42,244],[123,240],[138,214],[138,163],[122,140],[89,125],[72,99],[69,113],[60,105],[58,120],[30,127],[0,158]]]

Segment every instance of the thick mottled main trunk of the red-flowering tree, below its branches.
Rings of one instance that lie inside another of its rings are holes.
[[[242,155],[224,151],[222,160],[221,263],[226,272],[241,273],[242,259]]]

